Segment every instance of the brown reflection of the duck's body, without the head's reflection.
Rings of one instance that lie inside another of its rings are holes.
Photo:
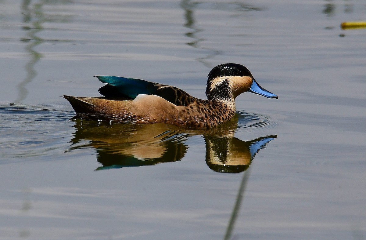
[[[74,127],[72,149],[95,148],[103,165],[96,170],[176,162],[187,152],[185,136],[160,123],[107,125],[76,119]],[[77,145],[82,140],[89,144]]]

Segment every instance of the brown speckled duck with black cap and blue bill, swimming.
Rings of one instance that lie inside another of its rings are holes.
[[[141,79],[95,76],[105,83],[104,97],[64,95],[77,117],[123,123],[163,122],[191,129],[212,128],[235,115],[235,98],[252,92],[278,97],[262,88],[243,65],[225,63],[208,74],[207,100],[192,97],[174,86]]]

